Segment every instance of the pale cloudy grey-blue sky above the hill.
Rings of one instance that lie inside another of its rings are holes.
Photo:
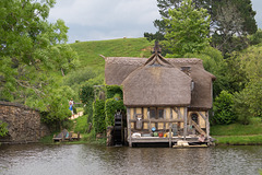
[[[262,28],[262,0],[251,0]],[[155,33],[153,21],[160,19],[156,0],[57,0],[49,22],[61,19],[69,27],[69,42],[143,37]]]

